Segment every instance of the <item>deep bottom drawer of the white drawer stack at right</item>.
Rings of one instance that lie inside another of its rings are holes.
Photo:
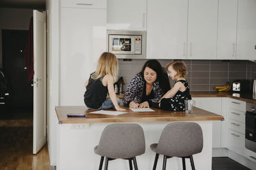
[[[228,149],[232,150],[233,152],[236,152],[239,155],[244,156],[245,155],[245,146],[244,146],[244,135],[236,132],[236,131],[232,131],[231,129],[229,129],[228,132]]]

